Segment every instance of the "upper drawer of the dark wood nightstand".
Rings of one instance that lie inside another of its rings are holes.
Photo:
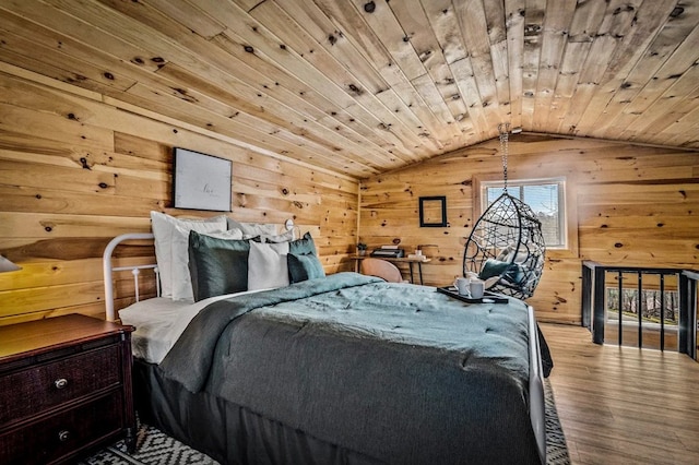
[[[118,385],[120,375],[117,345],[4,374],[0,377],[0,425]]]

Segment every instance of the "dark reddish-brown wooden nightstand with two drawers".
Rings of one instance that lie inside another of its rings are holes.
[[[69,314],[0,326],[0,463],[55,464],[135,445],[133,327]]]

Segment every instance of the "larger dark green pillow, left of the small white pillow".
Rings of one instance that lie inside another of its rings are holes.
[[[247,240],[189,234],[189,273],[194,301],[248,290]]]

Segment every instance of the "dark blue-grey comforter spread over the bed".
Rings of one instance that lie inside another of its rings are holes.
[[[367,462],[541,463],[510,300],[340,273],[209,306],[161,370]]]

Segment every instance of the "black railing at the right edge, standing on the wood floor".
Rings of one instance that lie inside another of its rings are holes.
[[[624,275],[637,276],[635,289],[638,290],[638,347],[643,347],[643,317],[641,296],[644,288],[643,277],[654,275],[654,289],[660,291],[660,341],[659,348],[665,349],[665,294],[670,291],[666,288],[668,277],[674,284],[673,290],[678,295],[678,324],[677,324],[677,349],[679,353],[687,354],[697,360],[697,283],[699,282],[699,272],[680,269],[651,269],[636,266],[609,266],[601,265],[591,261],[582,262],[582,325],[592,332],[592,341],[596,344],[603,344],[605,341],[606,317],[606,299],[607,299],[607,276],[616,274],[616,287],[619,296],[619,317],[618,317],[618,344],[623,344],[624,326],[628,324],[628,318],[625,320],[621,308],[621,296],[624,290]],[[656,283],[656,284],[655,284]]]

